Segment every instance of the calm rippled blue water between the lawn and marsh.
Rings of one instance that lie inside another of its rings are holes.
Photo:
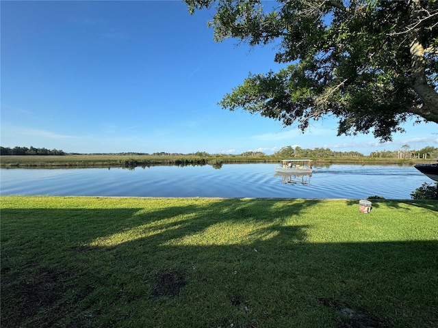
[[[136,169],[0,169],[1,195],[411,199],[424,182],[412,166],[314,165],[309,176],[280,176],[278,164],[153,166]]]

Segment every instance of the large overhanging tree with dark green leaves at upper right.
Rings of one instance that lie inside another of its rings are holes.
[[[324,115],[338,135],[372,132],[381,141],[408,118],[438,123],[438,1],[185,0],[215,6],[214,39],[274,42],[278,72],[250,74],[220,101],[298,124]],[[264,6],[263,6],[264,5]]]

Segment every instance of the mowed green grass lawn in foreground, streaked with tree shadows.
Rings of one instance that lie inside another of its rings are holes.
[[[1,327],[438,327],[438,202],[1,197]]]

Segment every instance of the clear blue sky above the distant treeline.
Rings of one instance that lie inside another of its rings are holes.
[[[216,43],[212,12],[181,1],[1,1],[1,141],[65,152],[272,154],[284,146],[357,151],[438,147],[438,124],[379,143],[336,137],[217,103],[248,73],[278,70],[275,49]]]

